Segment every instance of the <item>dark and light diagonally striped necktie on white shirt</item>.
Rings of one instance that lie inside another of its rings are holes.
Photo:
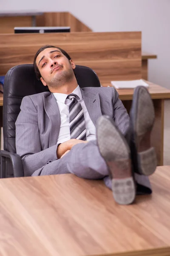
[[[74,93],[69,94],[67,99],[71,99],[69,105],[70,137],[71,139],[86,140],[85,118],[82,106]]]

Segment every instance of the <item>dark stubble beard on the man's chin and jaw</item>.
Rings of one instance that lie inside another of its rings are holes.
[[[72,81],[74,78],[73,69],[64,70],[61,74],[56,74],[54,78],[48,82],[48,87],[51,88],[59,88],[62,87],[64,84]]]

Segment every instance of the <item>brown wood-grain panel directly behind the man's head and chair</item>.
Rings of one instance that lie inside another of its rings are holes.
[[[75,64],[93,68],[101,82],[141,78],[141,32],[77,32],[0,35],[0,75],[33,63],[44,44],[65,49]]]

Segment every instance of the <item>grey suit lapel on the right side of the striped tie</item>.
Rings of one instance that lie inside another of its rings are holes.
[[[102,116],[99,93],[94,95],[92,93],[85,93],[83,90],[81,90],[81,92],[89,116],[94,125],[96,126],[97,119],[99,118],[99,116]]]

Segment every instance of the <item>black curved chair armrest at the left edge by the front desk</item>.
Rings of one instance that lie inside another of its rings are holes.
[[[10,153],[5,150],[0,150],[0,173],[1,173],[1,176],[4,177],[4,173],[6,173],[5,158],[9,158],[11,160],[14,177],[23,177],[24,170],[23,170],[23,163],[22,163],[21,157],[18,154]]]

